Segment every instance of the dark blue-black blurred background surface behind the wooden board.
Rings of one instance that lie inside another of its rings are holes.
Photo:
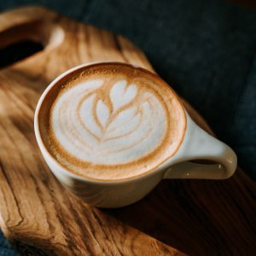
[[[131,39],[256,177],[255,10],[221,0],[9,0],[0,11],[28,4]],[[0,235],[1,256],[8,247]]]

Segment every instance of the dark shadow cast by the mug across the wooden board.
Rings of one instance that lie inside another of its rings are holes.
[[[225,181],[164,180],[143,201],[103,212],[189,255],[255,253],[255,196],[238,171]]]

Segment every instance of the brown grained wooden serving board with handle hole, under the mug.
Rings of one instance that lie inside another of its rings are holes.
[[[142,201],[114,210],[89,207],[63,189],[49,172],[33,131],[34,110],[47,84],[86,61],[126,61],[153,68],[125,38],[47,9],[15,9],[0,15],[0,49],[24,40],[39,41],[44,49],[0,70],[0,224],[21,253],[256,252],[256,185],[239,168],[224,181],[162,181]]]

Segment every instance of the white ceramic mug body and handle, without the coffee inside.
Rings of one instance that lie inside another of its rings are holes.
[[[54,84],[64,76],[87,65],[90,63],[74,67],[49,84],[40,97],[34,119],[35,134],[44,160],[55,177],[74,195],[96,207],[124,207],[142,199],[160,183],[162,178],[224,179],[232,176],[236,171],[237,160],[234,151],[203,131],[184,110],[187,122],[183,142],[176,154],[154,170],[137,177],[113,181],[93,180],[68,172],[45,148],[38,129],[38,112]],[[212,160],[216,164],[201,165],[191,163],[189,160]]]

